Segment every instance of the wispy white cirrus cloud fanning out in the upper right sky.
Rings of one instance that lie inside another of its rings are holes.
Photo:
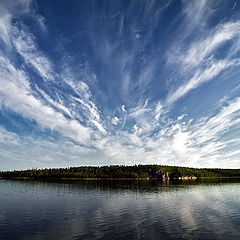
[[[192,16],[191,14],[195,14],[193,9],[198,7],[199,13],[192,18],[203,18],[207,21],[217,11],[220,3],[221,1],[217,3],[218,7],[215,6],[216,10],[213,11],[211,10],[214,6],[212,1],[185,2],[183,12],[186,16]],[[189,21],[189,24],[191,23]],[[224,70],[239,65],[240,21],[220,22],[212,28],[206,24],[201,25],[201,22],[199,24],[196,23],[195,26],[201,29],[198,31],[200,35],[197,38],[185,30],[183,36],[191,36],[192,40],[188,40],[186,44],[186,41],[182,39],[167,52],[168,64],[174,66],[177,69],[175,74],[184,79],[180,81],[180,84],[176,83],[174,90],[171,89],[166,101],[169,105],[203,83],[214,80]],[[222,54],[219,54],[221,51]]]

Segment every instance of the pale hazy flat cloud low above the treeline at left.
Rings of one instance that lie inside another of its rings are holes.
[[[0,127],[1,170],[70,167],[104,162],[101,152],[67,139],[19,137]]]

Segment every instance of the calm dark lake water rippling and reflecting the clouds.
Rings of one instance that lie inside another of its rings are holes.
[[[0,180],[0,239],[240,239],[240,183]]]

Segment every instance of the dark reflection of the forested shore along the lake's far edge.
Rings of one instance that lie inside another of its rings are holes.
[[[4,181],[4,180],[2,180]],[[171,192],[201,186],[227,186],[240,183],[237,178],[202,178],[195,180],[144,181],[144,180],[11,180],[14,184],[30,185],[41,188],[60,188],[72,190],[98,191],[139,191],[139,192]]]

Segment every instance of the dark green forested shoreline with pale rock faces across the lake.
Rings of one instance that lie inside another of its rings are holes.
[[[188,168],[161,165],[112,165],[101,167],[69,167],[52,169],[29,169],[2,171],[1,178],[131,178],[131,179],[179,179],[179,178],[222,178],[240,177],[240,169]]]

